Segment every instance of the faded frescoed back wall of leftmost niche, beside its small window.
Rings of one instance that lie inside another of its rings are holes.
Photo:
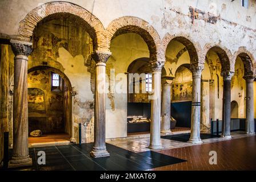
[[[28,74],[29,133],[41,130],[44,133],[65,131],[63,114],[63,85],[51,90],[51,71],[42,69]],[[62,82],[63,83],[63,82]]]

